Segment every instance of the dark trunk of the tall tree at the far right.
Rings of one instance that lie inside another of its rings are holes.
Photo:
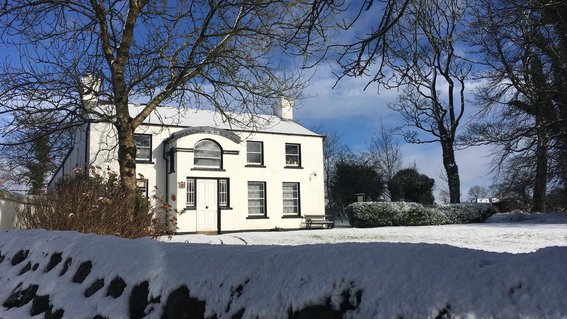
[[[545,195],[547,194],[547,134],[540,116],[536,115],[538,146],[536,148],[536,168],[534,184],[534,205],[532,211],[545,212]]]

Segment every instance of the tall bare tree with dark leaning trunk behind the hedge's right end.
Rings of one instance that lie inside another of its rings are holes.
[[[379,40],[348,45],[338,58],[344,71],[337,75],[339,79],[367,75],[369,66],[378,64],[378,72],[368,85],[377,82],[386,89],[402,90],[396,101],[388,104],[406,122],[398,128],[399,133],[409,143],[441,144],[451,203],[460,202],[454,142],[464,113],[465,81],[472,68],[455,50],[466,7],[467,2],[456,0],[387,6],[396,18]],[[445,85],[446,98],[441,92]],[[422,139],[412,128],[433,138]]]

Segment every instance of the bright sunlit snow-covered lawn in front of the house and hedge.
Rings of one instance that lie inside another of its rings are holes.
[[[486,251],[528,253],[567,246],[567,214],[501,214],[483,224],[339,228],[293,232],[227,233],[174,236],[171,242],[230,245],[304,245],[340,242],[424,242]],[[164,238],[165,240],[165,238]]]

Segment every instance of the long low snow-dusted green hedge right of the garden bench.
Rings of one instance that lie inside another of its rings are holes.
[[[463,203],[424,207],[406,202],[363,202],[350,204],[357,227],[426,226],[484,223],[496,211],[490,204]]]

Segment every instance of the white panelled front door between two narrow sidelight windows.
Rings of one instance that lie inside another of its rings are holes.
[[[197,232],[217,230],[217,180],[197,179]]]

